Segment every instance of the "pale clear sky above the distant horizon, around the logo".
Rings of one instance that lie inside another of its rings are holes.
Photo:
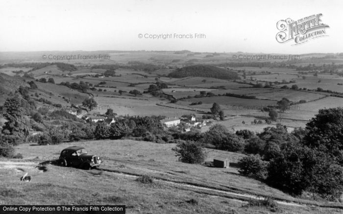
[[[0,51],[338,53],[342,8],[342,0],[0,0]],[[319,13],[328,36],[276,41],[277,21]],[[172,38],[145,38],[160,34]]]

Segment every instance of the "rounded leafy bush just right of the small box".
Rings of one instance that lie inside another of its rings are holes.
[[[250,155],[247,157],[243,157],[239,162],[239,172],[241,174],[256,177],[259,179],[266,179],[267,178],[267,167],[268,162],[263,161],[260,155]]]

